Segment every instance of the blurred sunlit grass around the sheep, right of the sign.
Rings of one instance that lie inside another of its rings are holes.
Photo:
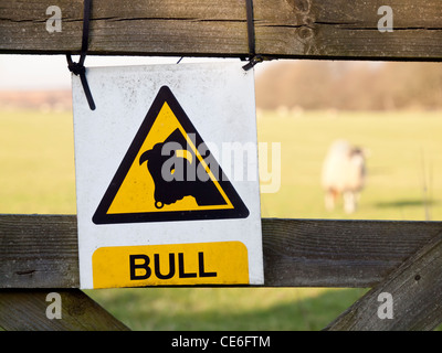
[[[259,115],[260,141],[281,141],[282,183],[262,195],[264,217],[442,220],[440,113],[315,113]],[[324,207],[320,169],[336,139],[368,154],[367,186],[356,213]]]

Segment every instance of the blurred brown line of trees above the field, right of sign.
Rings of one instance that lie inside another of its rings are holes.
[[[256,104],[339,110],[441,109],[442,64],[278,61],[256,75]]]

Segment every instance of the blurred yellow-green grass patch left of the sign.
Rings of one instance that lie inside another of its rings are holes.
[[[76,213],[71,113],[0,111],[0,212]]]

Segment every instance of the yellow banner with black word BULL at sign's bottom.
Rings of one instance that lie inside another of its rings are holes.
[[[249,284],[241,242],[102,247],[92,264],[94,288]]]

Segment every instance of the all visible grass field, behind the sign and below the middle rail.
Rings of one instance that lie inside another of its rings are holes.
[[[442,220],[440,113],[262,113],[259,140],[282,143],[281,189],[263,217]],[[72,114],[0,113],[0,213],[76,213]],[[326,212],[329,143],[369,151],[358,211]],[[87,293],[134,330],[320,330],[365,289],[146,288]]]

